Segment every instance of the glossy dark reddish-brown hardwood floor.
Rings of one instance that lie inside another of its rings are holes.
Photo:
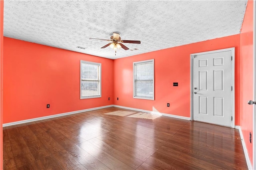
[[[248,169],[237,129],[116,110],[4,127],[4,170]]]

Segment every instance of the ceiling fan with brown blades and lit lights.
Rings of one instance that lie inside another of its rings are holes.
[[[90,40],[104,40],[104,41],[110,41],[111,43],[108,43],[107,45],[104,45],[101,48],[106,48],[110,46],[112,49],[115,51],[119,48],[123,48],[125,50],[128,50],[129,48],[126,47],[122,43],[140,43],[140,41],[133,41],[133,40],[121,40],[120,34],[113,32],[113,36],[110,37],[110,40],[105,40],[105,39],[98,39],[98,38],[89,38]]]

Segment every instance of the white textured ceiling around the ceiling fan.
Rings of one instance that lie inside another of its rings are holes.
[[[4,36],[116,59],[240,33],[247,1],[5,0]],[[113,32],[136,51],[100,49]],[[76,46],[86,47],[78,49]]]

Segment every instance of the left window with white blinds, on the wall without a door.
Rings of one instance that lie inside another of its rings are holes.
[[[80,99],[101,97],[101,63],[80,61]]]

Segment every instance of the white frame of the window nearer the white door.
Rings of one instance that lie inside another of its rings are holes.
[[[153,96],[152,96],[152,98],[149,98],[149,97],[140,97],[140,96],[136,96],[136,94],[135,94],[135,89],[136,89],[136,87],[135,87],[135,72],[134,72],[134,66],[135,66],[135,64],[137,64],[137,63],[146,63],[146,62],[152,62],[153,63],[153,69],[152,69],[152,71],[153,71],[153,91],[152,91],[152,93],[153,93]],[[133,98],[134,99],[146,99],[146,100],[154,100],[155,99],[155,73],[154,73],[154,69],[155,68],[155,64],[154,64],[154,59],[149,59],[149,60],[144,60],[144,61],[137,61],[137,62],[134,62],[133,63]]]

